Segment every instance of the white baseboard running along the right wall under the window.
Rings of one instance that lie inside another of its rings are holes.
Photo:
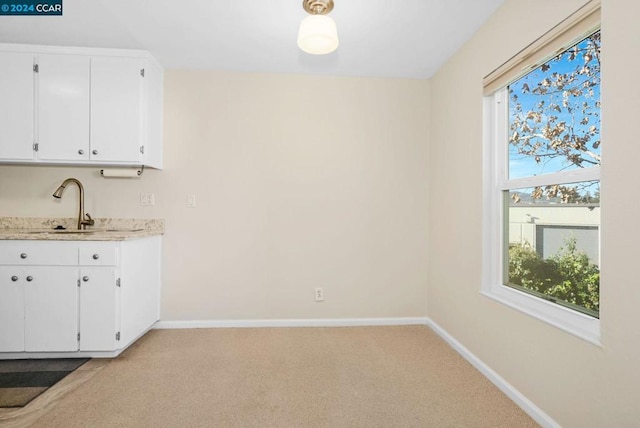
[[[515,389],[513,385],[507,382],[502,376],[494,372],[482,360],[476,357],[471,351],[453,338],[442,327],[436,324],[432,319],[427,318],[426,324],[445,340],[453,349],[455,349],[462,357],[467,360],[473,367],[482,373],[491,383],[500,389],[507,397],[524,410],[533,420],[545,428],[560,428],[560,424],[551,419],[549,415],[543,412],[538,406],[533,404],[527,397],[522,395],[520,391]]]

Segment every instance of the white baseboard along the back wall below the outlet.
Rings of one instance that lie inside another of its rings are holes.
[[[360,327],[385,325],[425,325],[426,317],[415,318],[337,318],[275,320],[193,320],[158,321],[154,329],[171,328],[247,328],[247,327]]]

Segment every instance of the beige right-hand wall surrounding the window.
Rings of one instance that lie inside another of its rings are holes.
[[[562,426],[631,427],[640,420],[640,2],[602,0],[602,347],[480,295],[482,77],[582,3],[507,0],[431,80],[427,312]]]

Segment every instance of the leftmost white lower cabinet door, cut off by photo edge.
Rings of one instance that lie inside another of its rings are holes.
[[[24,270],[0,266],[0,352],[24,351]]]

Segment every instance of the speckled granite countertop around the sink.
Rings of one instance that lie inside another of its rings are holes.
[[[0,240],[125,241],[164,234],[163,219],[96,218],[76,230],[75,218],[0,217]],[[62,226],[65,229],[56,230]]]

